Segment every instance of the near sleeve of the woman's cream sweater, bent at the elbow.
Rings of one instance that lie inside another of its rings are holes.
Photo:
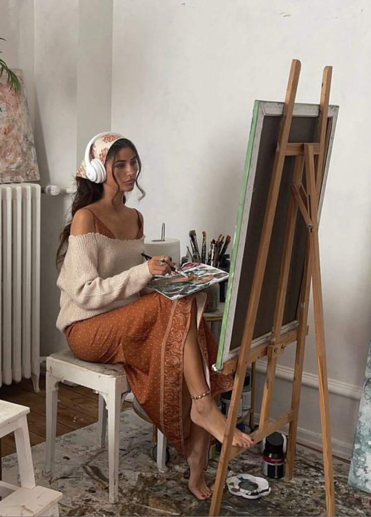
[[[152,278],[148,263],[122,271],[110,278],[99,277],[98,247],[94,234],[72,235],[63,268],[65,290],[82,309],[100,309],[116,300],[122,300],[140,292]]]

